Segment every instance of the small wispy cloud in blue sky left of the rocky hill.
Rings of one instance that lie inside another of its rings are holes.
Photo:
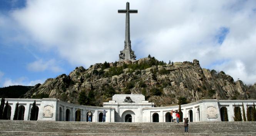
[[[45,70],[50,70],[52,72],[62,72],[64,71],[61,67],[56,65],[55,59],[50,59],[49,61],[43,61],[39,59],[27,65],[28,70],[35,72],[42,72]]]

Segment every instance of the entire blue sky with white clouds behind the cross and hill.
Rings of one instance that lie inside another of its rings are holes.
[[[118,60],[127,0],[0,0],[0,87],[35,85]],[[198,59],[256,82],[255,0],[129,0],[137,59]]]

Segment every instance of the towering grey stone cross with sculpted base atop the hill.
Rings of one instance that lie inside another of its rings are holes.
[[[131,48],[130,40],[130,13],[138,13],[138,10],[130,10],[129,2],[126,3],[125,10],[118,10],[118,13],[125,13],[125,41],[124,41],[124,50],[120,51],[119,60],[135,60],[136,55]]]

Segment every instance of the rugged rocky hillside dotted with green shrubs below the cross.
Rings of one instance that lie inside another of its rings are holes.
[[[256,99],[256,83],[246,86],[223,71],[202,69],[199,61],[165,64],[154,57],[135,62],[95,64],[76,67],[69,75],[59,75],[37,84],[25,98],[49,96],[71,103],[83,94],[88,105],[102,106],[114,94],[143,94],[156,106],[177,104],[179,97],[188,102],[201,99]],[[93,97],[93,99],[91,99]]]

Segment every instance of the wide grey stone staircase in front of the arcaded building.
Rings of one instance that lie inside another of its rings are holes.
[[[256,136],[256,122],[101,123],[0,120],[0,135],[10,136]]]

